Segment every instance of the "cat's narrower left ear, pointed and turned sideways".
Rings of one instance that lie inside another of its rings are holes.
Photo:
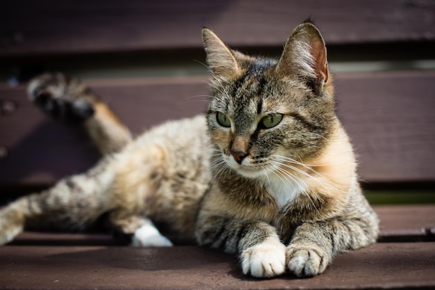
[[[209,29],[202,29],[202,41],[207,55],[207,65],[215,76],[233,76],[240,72],[234,52]]]

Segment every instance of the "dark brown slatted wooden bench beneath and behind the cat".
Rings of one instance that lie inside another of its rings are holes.
[[[385,190],[389,199],[375,204],[379,243],[312,279],[245,277],[235,257],[192,245],[138,249],[107,234],[25,232],[0,248],[0,289],[435,287],[433,1],[24,2],[0,11],[0,204],[98,159],[83,132],[28,102],[32,74],[81,77],[139,134],[206,108],[197,96],[208,94],[207,70],[194,61],[204,63],[202,26],[232,47],[277,56],[308,16],[327,42],[363,186],[371,201]],[[409,204],[392,205],[404,195]]]

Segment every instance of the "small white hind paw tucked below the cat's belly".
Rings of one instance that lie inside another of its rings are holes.
[[[163,236],[152,224],[136,229],[131,241],[133,247],[172,247],[172,242]]]

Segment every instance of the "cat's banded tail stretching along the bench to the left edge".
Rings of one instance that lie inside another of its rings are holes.
[[[81,175],[61,179],[53,187],[11,202],[0,209],[0,245],[24,228],[83,229],[110,211],[115,174],[112,157]]]

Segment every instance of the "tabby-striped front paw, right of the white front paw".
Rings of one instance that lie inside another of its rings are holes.
[[[327,253],[320,248],[289,245],[286,250],[288,270],[297,277],[319,275],[328,265]]]

